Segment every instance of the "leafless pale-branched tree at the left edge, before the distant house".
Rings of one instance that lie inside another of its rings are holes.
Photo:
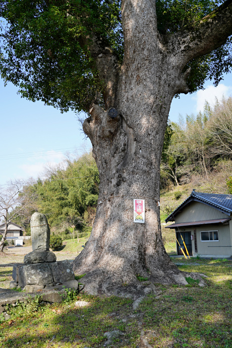
[[[7,237],[8,225],[20,215],[25,215],[27,209],[33,209],[34,193],[21,193],[27,183],[23,180],[10,182],[6,187],[0,188],[0,220],[5,223],[4,234],[0,241],[0,253],[3,252],[4,242]]]

